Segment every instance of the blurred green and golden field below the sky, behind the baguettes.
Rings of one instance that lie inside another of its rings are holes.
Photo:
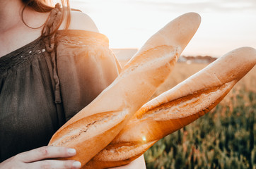
[[[204,66],[176,65],[156,94]],[[236,84],[212,111],[146,151],[147,168],[256,168],[255,70]]]

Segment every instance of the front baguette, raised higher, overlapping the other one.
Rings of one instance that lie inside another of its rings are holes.
[[[159,30],[109,87],[52,136],[49,145],[76,149],[76,156],[68,159],[85,165],[110,144],[168,77],[199,23],[197,13],[187,13]]]

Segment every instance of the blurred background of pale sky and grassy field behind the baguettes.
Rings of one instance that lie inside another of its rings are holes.
[[[201,15],[199,30],[154,96],[228,51],[241,46],[256,48],[256,0],[70,1],[72,8],[87,13],[100,32],[107,35],[110,48],[122,65],[174,18],[187,12]],[[255,121],[256,68],[253,68],[214,110],[146,151],[147,168],[256,169]]]

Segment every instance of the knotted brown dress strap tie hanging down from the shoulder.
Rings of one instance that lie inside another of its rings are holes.
[[[54,50],[55,44],[55,32],[54,30],[59,27],[62,22],[62,8],[60,4],[56,4],[55,8],[52,9],[50,13],[50,18],[47,21],[43,33],[44,42],[46,50],[50,53],[53,65],[53,79],[54,79],[54,96],[55,96],[55,104],[62,103],[60,89],[59,89],[59,77],[57,73],[57,62],[56,62],[56,52]]]

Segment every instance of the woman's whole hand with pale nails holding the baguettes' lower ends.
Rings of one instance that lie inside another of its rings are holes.
[[[76,155],[75,149],[58,146],[42,146],[37,149],[17,154],[0,163],[0,169],[77,169],[81,163],[71,160],[53,160],[50,158],[67,158]]]

